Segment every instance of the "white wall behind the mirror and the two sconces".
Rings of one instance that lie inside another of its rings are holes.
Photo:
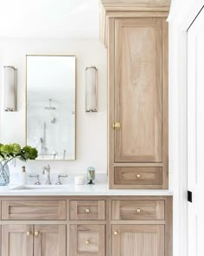
[[[77,58],[76,161],[49,161],[53,172],[82,173],[86,167],[107,172],[107,53],[99,39],[0,39],[0,141],[25,144],[25,91],[27,54],[74,55]],[[3,65],[18,70],[17,112],[3,112]],[[85,69],[99,70],[99,112],[85,113]],[[40,172],[48,161],[29,161],[29,172]],[[16,162],[18,171],[22,162]]]

